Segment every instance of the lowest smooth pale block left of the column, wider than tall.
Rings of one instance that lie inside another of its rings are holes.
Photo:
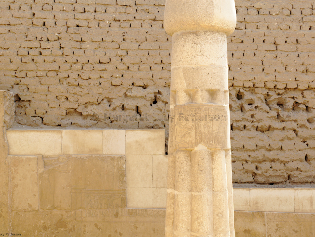
[[[127,187],[127,208],[165,208],[166,188]]]

